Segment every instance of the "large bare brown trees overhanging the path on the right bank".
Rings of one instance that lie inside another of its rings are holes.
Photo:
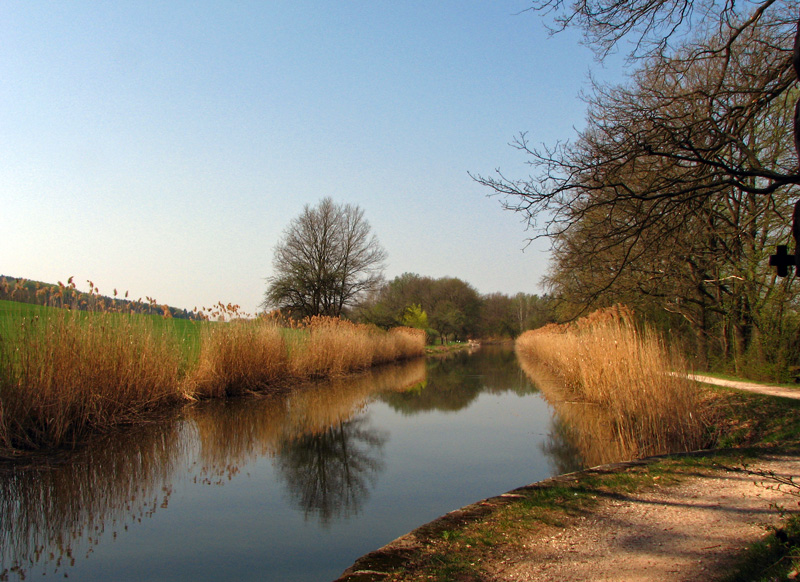
[[[529,177],[474,176],[531,227],[540,219],[560,317],[626,303],[680,338],[698,368],[790,375],[796,275],[777,277],[769,256],[790,240],[800,196],[800,4],[542,0],[532,10],[582,29],[600,58],[633,47],[624,83],[592,82],[575,139],[516,139]]]

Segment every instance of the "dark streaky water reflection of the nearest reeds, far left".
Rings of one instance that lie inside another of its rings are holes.
[[[105,537],[169,503],[188,457],[190,427],[177,415],[105,438],[68,458],[0,470],[0,579],[67,575]]]

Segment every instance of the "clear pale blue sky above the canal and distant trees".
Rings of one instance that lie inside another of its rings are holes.
[[[467,172],[574,136],[593,61],[527,0],[0,4],[0,273],[254,312],[304,204],[386,276],[540,292],[545,244]]]

